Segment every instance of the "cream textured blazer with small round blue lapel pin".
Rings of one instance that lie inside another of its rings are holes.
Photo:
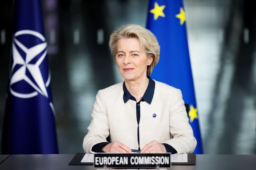
[[[193,130],[179,89],[155,81],[151,104],[140,102],[140,148],[156,140],[171,145],[177,154],[192,153],[196,147]],[[136,101],[123,100],[123,82],[100,90],[92,109],[92,121],[84,137],[85,153],[101,142],[119,141],[138,149]],[[152,115],[156,114],[156,117]],[[173,138],[172,138],[173,136]]]

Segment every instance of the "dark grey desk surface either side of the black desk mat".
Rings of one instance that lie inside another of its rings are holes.
[[[11,155],[2,164],[1,170],[92,170],[93,166],[69,166],[75,154],[59,155]],[[196,166],[173,165],[172,170],[236,170],[256,167],[256,155],[196,155]]]

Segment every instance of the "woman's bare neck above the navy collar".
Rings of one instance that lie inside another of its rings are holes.
[[[139,80],[124,80],[127,90],[135,97],[136,102],[140,101],[147,90],[149,79],[147,76]]]

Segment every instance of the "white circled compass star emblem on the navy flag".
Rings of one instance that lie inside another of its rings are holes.
[[[17,39],[18,36],[21,36],[20,39],[18,38],[19,40]],[[31,42],[36,42],[36,45],[31,44]],[[44,61],[46,54],[47,42],[41,33],[21,30],[14,34],[12,41],[13,63],[10,70],[9,87],[13,96],[26,99],[35,97],[40,93],[47,99],[49,98],[46,88],[51,81],[50,71],[46,75],[48,78],[45,78],[44,75],[42,76],[42,71],[47,71],[43,67],[40,69],[40,64]],[[44,79],[47,81],[44,82]]]

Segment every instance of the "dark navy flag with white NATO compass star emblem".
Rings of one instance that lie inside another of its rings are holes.
[[[40,0],[15,0],[2,154],[57,154]]]

